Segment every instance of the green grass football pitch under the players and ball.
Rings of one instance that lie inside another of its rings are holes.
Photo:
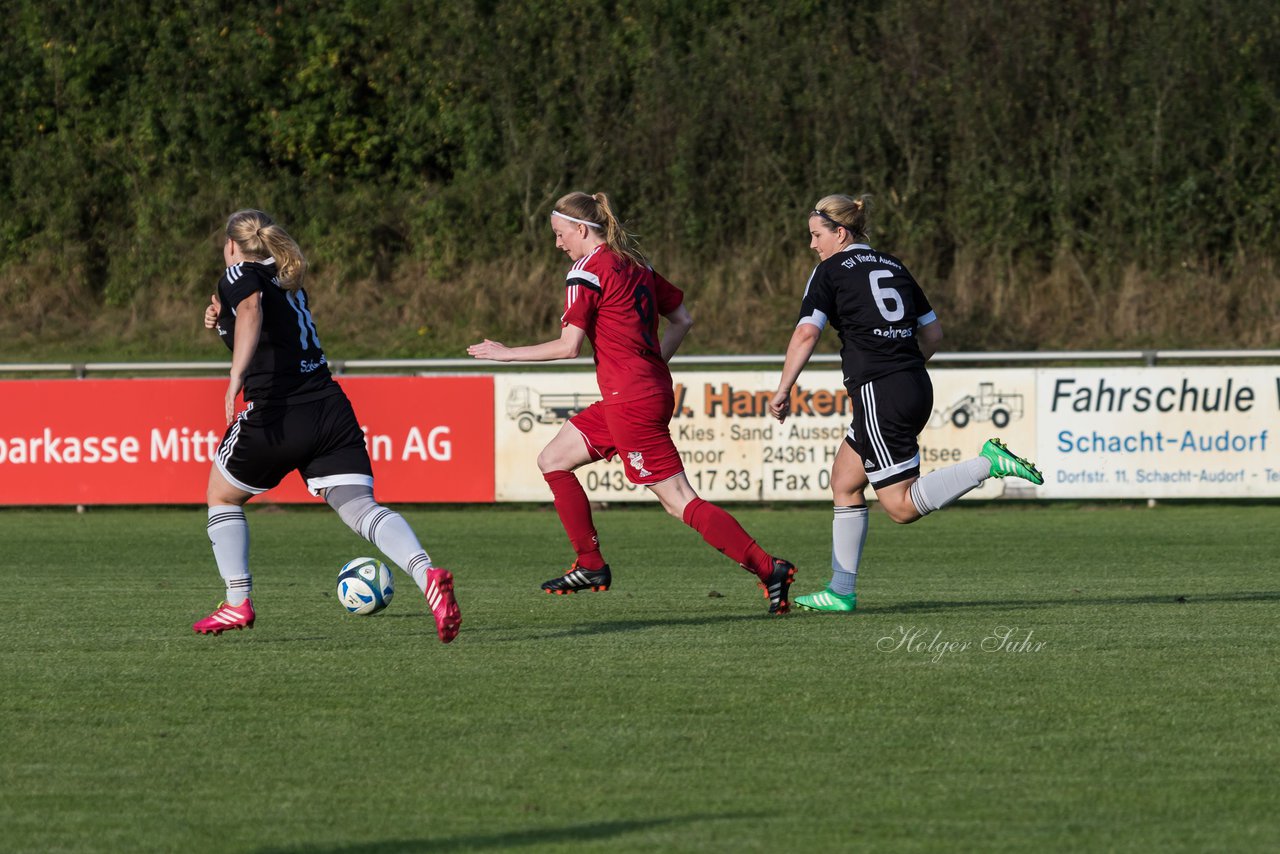
[[[826,581],[828,508],[735,512]],[[324,510],[250,512],[220,638],[202,508],[0,512],[0,849],[1280,849],[1274,504],[873,510],[860,611],[783,618],[655,506],[576,597],[547,510],[406,516],[449,647],[398,572],[342,612]]]

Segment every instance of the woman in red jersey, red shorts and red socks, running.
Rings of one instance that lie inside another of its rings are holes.
[[[543,590],[608,590],[613,583],[573,470],[620,456],[631,483],[648,487],[668,513],[754,574],[769,613],[786,613],[795,567],[764,552],[728,512],[698,497],[671,439],[675,392],[667,362],[694,323],[684,293],[645,262],[604,193],[562,197],[550,227],[556,248],[573,262],[564,283],[559,338],[527,347],[485,339],[467,347],[476,359],[503,362],[573,359],[584,339],[595,352],[602,399],[572,416],[538,455],[577,554],[568,571],[543,584]],[[667,320],[660,338],[659,316]]]

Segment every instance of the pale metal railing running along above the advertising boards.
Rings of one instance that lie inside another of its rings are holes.
[[[676,356],[675,367],[707,367],[721,365],[781,365],[782,355],[754,356]],[[1280,361],[1280,350],[1094,350],[1094,351],[1030,351],[993,353],[936,353],[931,365],[940,364],[991,364],[991,362],[1134,362],[1153,366],[1161,362],[1187,361]],[[810,364],[838,365],[838,353],[814,353]],[[568,359],[556,362],[490,362],[475,359],[339,359],[329,364],[334,374],[349,371],[402,371],[430,373],[454,370],[498,371],[547,366],[590,366],[590,359]],[[84,378],[90,374],[164,374],[175,371],[227,373],[229,361],[189,362],[0,362],[0,375],[13,374],[70,374]]]

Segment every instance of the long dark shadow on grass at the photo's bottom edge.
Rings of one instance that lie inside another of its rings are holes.
[[[556,845],[603,841],[625,834],[689,825],[701,821],[749,818],[749,813],[723,813],[719,816],[678,816],[636,821],[593,822],[567,827],[515,830],[506,834],[477,834],[474,836],[445,836],[442,839],[394,839],[379,842],[351,845],[291,845],[288,848],[259,849],[257,854],[393,854],[393,851],[485,851],[525,845]]]

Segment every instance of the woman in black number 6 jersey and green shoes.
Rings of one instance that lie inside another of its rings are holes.
[[[769,411],[785,421],[791,389],[829,323],[840,335],[852,423],[831,469],[835,498],[831,583],[796,597],[806,611],[851,612],[867,542],[867,487],[895,522],[941,510],[987,478],[1015,476],[1042,484],[1034,465],[1000,439],[964,462],[920,476],[918,437],[933,412],[933,385],[924,369],[942,342],[942,325],[906,266],[867,243],[867,197],[827,196],[809,213],[809,248],[818,254],[787,346]]]

